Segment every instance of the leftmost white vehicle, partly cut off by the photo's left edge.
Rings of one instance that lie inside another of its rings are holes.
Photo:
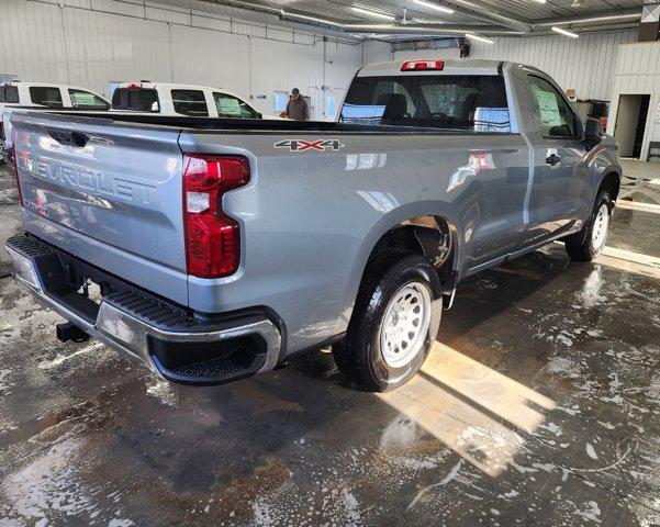
[[[0,83],[0,152],[7,159],[4,145],[11,139],[11,108],[76,108],[81,111],[108,111],[110,102],[85,88],[53,82],[11,81]],[[4,111],[4,110],[8,111]],[[7,122],[5,122],[7,121]],[[2,160],[0,159],[0,162]]]

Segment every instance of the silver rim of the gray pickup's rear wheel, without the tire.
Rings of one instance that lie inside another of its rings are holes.
[[[392,368],[410,363],[424,346],[430,325],[430,294],[421,282],[403,285],[390,300],[380,329],[380,349]]]

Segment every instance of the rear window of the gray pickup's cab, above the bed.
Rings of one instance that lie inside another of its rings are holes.
[[[339,122],[511,132],[500,76],[357,77]]]

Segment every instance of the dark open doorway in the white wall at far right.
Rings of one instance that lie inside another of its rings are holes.
[[[614,137],[618,141],[620,157],[641,157],[650,102],[650,94],[619,96]]]

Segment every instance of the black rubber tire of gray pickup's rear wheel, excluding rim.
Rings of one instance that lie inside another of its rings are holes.
[[[381,257],[370,265],[365,272],[346,337],[333,346],[339,370],[361,390],[369,392],[394,390],[414,377],[438,333],[443,301],[434,295],[437,284],[437,272],[422,256],[399,253]],[[428,329],[421,329],[415,346],[421,343],[421,348],[410,362],[393,367],[383,357],[381,326],[390,301],[405,287],[416,288],[420,293],[423,293],[422,288],[426,288],[430,299]]]

